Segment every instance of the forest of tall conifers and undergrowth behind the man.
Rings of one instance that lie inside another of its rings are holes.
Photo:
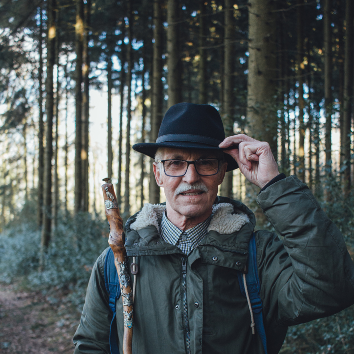
[[[108,245],[102,179],[124,220],[164,201],[131,147],[178,102],[267,141],[353,258],[353,56],[352,0],[0,0],[0,288],[61,292],[80,315]],[[271,229],[258,192],[238,170],[219,190]],[[353,354],[354,308],[289,328],[281,353]]]

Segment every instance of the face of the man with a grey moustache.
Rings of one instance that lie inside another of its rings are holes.
[[[216,157],[216,153],[212,152],[212,150],[165,148],[161,160],[195,161]],[[169,177],[165,175],[162,164],[160,164],[160,169],[158,169],[154,162],[156,182],[165,191],[168,217],[170,218],[169,213],[174,213],[175,216],[181,218],[205,220],[211,213],[213,202],[217,196],[218,186],[224,179],[226,168],[226,163],[220,163],[218,174],[214,176],[200,176],[194,165],[190,164],[184,176]],[[181,188],[185,186],[186,188]],[[191,188],[191,186],[192,189],[185,191]],[[176,193],[177,188],[184,191]]]

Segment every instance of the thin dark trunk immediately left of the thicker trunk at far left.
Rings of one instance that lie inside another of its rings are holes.
[[[42,8],[39,8],[39,43],[38,43],[38,204],[37,204],[37,226],[42,226],[43,219],[43,180],[44,180],[44,123],[43,123],[43,19]]]

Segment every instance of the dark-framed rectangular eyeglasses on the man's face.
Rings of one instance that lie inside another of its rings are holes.
[[[219,172],[219,159],[200,159],[195,161],[185,160],[158,160],[164,166],[166,176],[181,177],[187,173],[188,166],[193,164],[198,175],[213,176]]]

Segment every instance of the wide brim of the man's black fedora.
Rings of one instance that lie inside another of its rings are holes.
[[[181,149],[206,149],[206,150],[216,150],[216,151],[223,151],[223,149],[207,144],[195,143],[195,142],[166,142],[166,143],[139,143],[133,145],[133,149],[135,151],[141,152],[144,155],[148,155],[151,158],[155,158],[155,154],[158,148],[181,148]],[[228,164],[226,172],[236,170],[238,168],[237,162],[234,158],[224,152],[225,160]]]

